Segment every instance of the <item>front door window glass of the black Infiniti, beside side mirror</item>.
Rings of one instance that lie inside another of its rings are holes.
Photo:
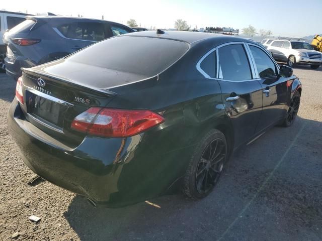
[[[260,48],[250,46],[255,59],[257,72],[261,78],[276,76],[275,64],[271,58]]]

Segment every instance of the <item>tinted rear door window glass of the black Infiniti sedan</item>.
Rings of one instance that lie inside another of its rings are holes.
[[[219,77],[227,80],[252,79],[251,69],[243,45],[232,44],[219,48]]]

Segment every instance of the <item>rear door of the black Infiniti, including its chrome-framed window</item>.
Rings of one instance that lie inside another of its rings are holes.
[[[233,126],[234,145],[238,147],[255,134],[262,111],[262,86],[254,78],[245,43],[223,44],[216,53],[222,101]]]

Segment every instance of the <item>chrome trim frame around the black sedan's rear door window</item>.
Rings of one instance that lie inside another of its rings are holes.
[[[220,73],[221,66],[219,65],[219,51],[216,51],[216,61],[217,61],[217,63],[216,63],[216,65],[217,65],[217,68],[216,68],[216,71],[217,71],[216,77],[217,77],[217,79],[220,79],[222,81],[227,81],[227,82],[249,82],[249,81],[253,81],[253,80],[258,80],[259,78],[256,77],[258,75],[255,75],[255,67],[251,63],[252,62],[251,55],[249,53],[248,46],[247,46],[247,44],[245,42],[229,42],[229,43],[221,44],[221,45],[218,45],[217,46],[217,50],[219,50],[219,48],[221,48],[223,46],[233,45],[233,44],[241,44],[241,45],[244,46],[245,54],[246,54],[247,59],[248,59],[248,64],[251,67],[252,79],[239,80],[239,81],[228,80],[228,79],[220,79],[219,77],[220,76],[222,77],[222,73]]]

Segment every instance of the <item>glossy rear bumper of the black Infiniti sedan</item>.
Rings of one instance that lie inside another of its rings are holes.
[[[33,172],[108,207],[165,193],[185,173],[186,160],[193,151],[187,147],[157,153],[143,134],[125,139],[86,137],[71,148],[26,121],[16,99],[8,123],[25,164]]]

